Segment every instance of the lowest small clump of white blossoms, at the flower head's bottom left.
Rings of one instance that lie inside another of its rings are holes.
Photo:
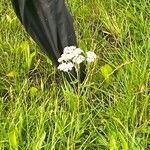
[[[71,71],[73,67],[74,67],[73,63],[69,62],[69,63],[62,63],[62,64],[60,64],[58,66],[58,69],[60,71],[68,72],[68,71]]]

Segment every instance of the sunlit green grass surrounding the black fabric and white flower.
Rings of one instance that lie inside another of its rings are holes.
[[[150,1],[67,3],[98,56],[78,92],[0,1],[0,150],[149,150]]]

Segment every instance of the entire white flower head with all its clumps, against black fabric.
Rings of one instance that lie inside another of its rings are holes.
[[[80,64],[84,60],[87,60],[87,62],[89,63],[95,61],[96,54],[94,52],[91,51],[86,52],[87,55],[86,58],[83,56],[82,53],[83,50],[77,48],[76,46],[65,47],[63,54],[58,59],[58,62],[60,63],[58,69],[60,71],[68,72],[71,71],[76,64]]]

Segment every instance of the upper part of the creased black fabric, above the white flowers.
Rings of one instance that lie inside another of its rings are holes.
[[[11,1],[26,31],[58,66],[64,47],[77,46],[73,20],[64,0]]]

